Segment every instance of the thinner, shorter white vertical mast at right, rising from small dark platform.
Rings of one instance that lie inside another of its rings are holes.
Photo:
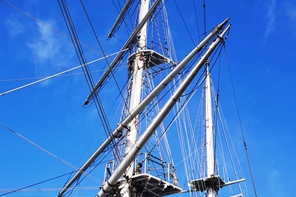
[[[205,79],[205,126],[207,148],[207,177],[214,177],[214,144],[213,144],[213,120],[211,113],[211,76],[209,74],[209,60],[206,63]],[[214,187],[207,188],[207,196],[214,197]]]

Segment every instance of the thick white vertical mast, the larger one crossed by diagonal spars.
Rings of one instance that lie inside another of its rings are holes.
[[[140,8],[139,8],[139,23],[143,20],[143,18],[148,13],[149,1],[141,0]],[[134,62],[132,63],[132,80],[131,80],[131,91],[130,91],[130,106],[129,111],[134,110],[134,108],[139,105],[141,101],[141,84],[142,84],[142,73],[144,67],[144,59],[143,59],[143,50],[146,49],[146,35],[147,35],[147,22],[141,28],[139,32],[138,41],[137,41],[137,53],[134,58]],[[137,130],[138,130],[138,115],[136,118],[130,122],[128,125],[130,129],[125,147],[125,156],[128,155],[130,149],[134,146],[137,140]],[[125,176],[128,178],[132,177],[132,173],[134,171],[133,162],[130,164],[128,169],[125,171]],[[123,197],[130,197],[130,185],[128,182],[123,181],[121,184],[120,192]]]

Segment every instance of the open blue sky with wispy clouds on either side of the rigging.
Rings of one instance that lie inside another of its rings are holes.
[[[67,33],[57,1],[9,2],[60,32]],[[191,35],[197,37],[192,1],[176,2]],[[296,2],[205,2],[208,30],[231,17],[227,56],[257,194],[292,196],[294,191],[290,185],[296,181],[296,171],[293,169],[296,165],[296,106],[293,97],[296,84]],[[94,20],[94,25],[98,25],[96,30],[99,39],[104,41],[105,53],[114,53],[113,48],[122,43],[113,40],[106,43],[105,38],[116,19],[116,11],[106,2],[103,5],[101,1],[92,5],[85,3],[90,17],[98,18]],[[0,2],[0,5],[0,93],[79,65],[67,37],[6,3]],[[202,32],[202,1],[195,6]],[[69,7],[74,19],[77,17],[79,20],[81,10],[76,9],[75,3],[69,4]],[[173,21],[171,30],[178,59],[181,59],[193,44],[173,1],[168,3],[168,16],[173,18],[170,19]],[[103,28],[105,24],[109,24],[107,28]],[[90,34],[90,29],[84,28],[84,25],[78,24],[79,35]],[[83,41],[96,47],[92,37],[85,36]],[[189,44],[183,46],[184,43]],[[87,56],[89,60],[102,57],[92,50],[88,51]],[[81,107],[89,93],[85,77],[79,74],[81,72],[55,77],[1,96],[0,122],[63,160],[79,166],[98,146],[96,143],[89,145],[89,142],[101,142],[101,134],[97,133],[101,128],[95,109]],[[112,89],[108,91],[108,96],[112,95]],[[111,110],[114,109],[107,109]],[[40,151],[3,126],[0,136],[0,190],[24,187],[71,171],[68,165]],[[62,187],[66,178],[55,181],[54,187]]]

